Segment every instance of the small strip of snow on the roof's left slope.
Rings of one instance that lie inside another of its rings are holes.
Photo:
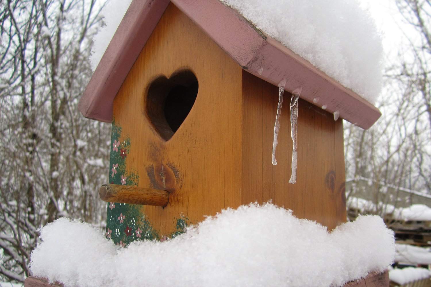
[[[96,70],[97,65],[99,65],[103,53],[108,47],[109,42],[111,42],[112,36],[114,36],[131,2],[132,0],[111,0],[103,7],[102,11],[100,11],[105,26],[99,30],[93,39],[94,44],[90,56],[91,68],[93,68],[93,71]]]

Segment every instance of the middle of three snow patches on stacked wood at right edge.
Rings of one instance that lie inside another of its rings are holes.
[[[431,264],[431,251],[424,247],[395,244],[395,262],[412,265]]]

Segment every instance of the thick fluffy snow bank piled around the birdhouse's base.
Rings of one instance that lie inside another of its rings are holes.
[[[41,230],[31,272],[66,286],[334,286],[384,271],[394,235],[378,216],[332,233],[273,204],[227,209],[164,242],[127,248],[86,223]]]

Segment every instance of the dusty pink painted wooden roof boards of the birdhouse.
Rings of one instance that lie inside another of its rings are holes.
[[[266,37],[250,22],[219,0],[172,0],[244,70],[278,85],[286,79],[285,89],[302,86],[301,98],[364,129],[381,116],[380,111],[352,90],[278,41]],[[112,121],[112,102],[132,65],[147,43],[169,0],[133,0],[112,37],[93,77],[79,102],[79,110],[95,120]]]

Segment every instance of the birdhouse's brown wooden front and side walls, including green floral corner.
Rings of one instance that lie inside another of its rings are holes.
[[[330,229],[344,222],[342,123],[300,101],[292,185],[285,99],[272,166],[278,87],[243,71],[170,3],[115,98],[109,174],[116,184],[167,190],[169,204],[109,203],[108,237],[162,238],[224,208],[270,200]],[[190,111],[176,111],[178,101]]]

